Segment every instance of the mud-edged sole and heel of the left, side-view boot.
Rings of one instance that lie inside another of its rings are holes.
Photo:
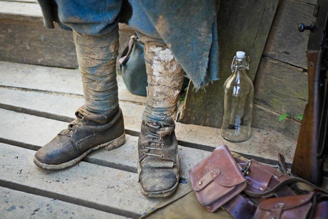
[[[33,158],[33,162],[40,168],[42,169],[46,169],[46,170],[62,170],[68,167],[71,167],[77,163],[79,163],[83,158],[85,158],[89,153],[93,152],[94,150],[97,150],[101,147],[105,147],[107,150],[113,150],[119,146],[122,146],[125,143],[125,132],[119,136],[118,138],[110,141],[110,142],[106,142],[97,146],[94,146],[92,148],[90,148],[89,150],[85,151],[83,154],[81,154],[80,156],[78,156],[77,158],[70,160],[66,163],[62,163],[62,164],[45,164],[42,163],[40,161],[38,161],[35,156]]]

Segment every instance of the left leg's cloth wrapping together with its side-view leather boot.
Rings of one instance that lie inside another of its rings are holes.
[[[48,170],[70,167],[100,147],[114,149],[125,142],[116,80],[118,26],[99,36],[73,31],[73,37],[85,104],[67,129],[36,152],[34,163]]]

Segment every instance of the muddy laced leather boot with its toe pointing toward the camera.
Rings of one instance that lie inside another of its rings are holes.
[[[144,195],[166,197],[178,186],[180,158],[174,128],[174,122],[142,121],[138,172]]]

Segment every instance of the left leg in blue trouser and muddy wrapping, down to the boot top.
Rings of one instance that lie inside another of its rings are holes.
[[[73,29],[85,108],[106,114],[117,108],[118,13],[122,0],[56,0],[58,17]]]

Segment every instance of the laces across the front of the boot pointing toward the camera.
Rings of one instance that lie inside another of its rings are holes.
[[[154,129],[160,129],[160,128],[163,128],[165,125],[168,126],[171,124],[166,124],[164,122],[145,122],[145,125],[152,127]],[[145,137],[148,139],[148,140],[146,140],[146,143],[148,146],[142,146],[142,148],[148,149],[148,150],[163,151],[163,149],[160,147],[154,147],[154,146],[161,146],[161,147],[164,146],[164,144],[161,141],[161,140],[163,140],[163,134],[161,134],[161,133],[157,134],[157,133],[155,133],[155,131],[151,132],[149,130],[147,130],[147,133],[148,134]],[[155,153],[151,153],[150,151],[143,152],[142,155],[164,158],[164,154],[155,154]]]

